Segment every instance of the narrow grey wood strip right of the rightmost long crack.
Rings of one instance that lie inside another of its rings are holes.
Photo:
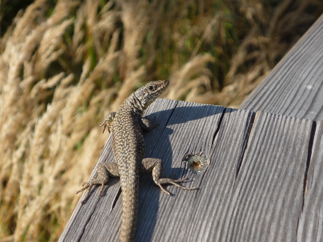
[[[297,230],[297,241],[323,238],[323,122],[316,125],[307,189]]]

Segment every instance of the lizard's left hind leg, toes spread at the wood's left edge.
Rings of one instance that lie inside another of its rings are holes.
[[[78,194],[84,191],[85,189],[87,189],[86,195],[82,201],[82,204],[84,204],[84,202],[89,197],[91,188],[94,185],[101,185],[101,190],[99,192],[99,195],[101,196],[104,189],[104,185],[107,183],[107,181],[109,181],[109,177],[120,176],[118,172],[117,163],[112,163],[112,162],[99,163],[97,166],[97,174],[98,174],[98,177],[96,178],[93,177],[90,181],[85,181],[85,183],[82,184],[83,188],[75,193],[75,194]]]

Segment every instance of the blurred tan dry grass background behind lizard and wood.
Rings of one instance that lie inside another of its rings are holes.
[[[0,240],[57,241],[108,134],[151,80],[239,107],[321,0],[0,0]]]

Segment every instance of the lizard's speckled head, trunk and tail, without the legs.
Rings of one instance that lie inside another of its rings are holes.
[[[150,90],[153,83],[153,90]],[[134,238],[138,214],[139,164],[145,156],[142,114],[169,85],[168,80],[150,82],[132,93],[114,118],[112,148],[118,165],[122,190],[122,228],[120,241]]]

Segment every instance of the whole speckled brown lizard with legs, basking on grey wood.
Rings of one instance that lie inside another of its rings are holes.
[[[82,184],[82,189],[76,194],[87,189],[82,204],[87,200],[90,190],[95,185],[101,185],[99,196],[110,176],[120,176],[122,191],[122,225],[120,241],[133,241],[137,224],[139,173],[152,173],[153,181],[162,191],[170,195],[163,188],[163,184],[173,184],[186,190],[196,190],[195,187],[184,187],[184,179],[174,180],[162,178],[164,164],[161,159],[144,158],[145,141],[142,130],[150,131],[152,123],[142,117],[144,110],[169,86],[169,80],[152,81],[132,93],[119,107],[117,112],[110,112],[99,126],[111,132],[114,162],[99,163],[97,178],[92,178]],[[111,123],[113,122],[113,125]]]

